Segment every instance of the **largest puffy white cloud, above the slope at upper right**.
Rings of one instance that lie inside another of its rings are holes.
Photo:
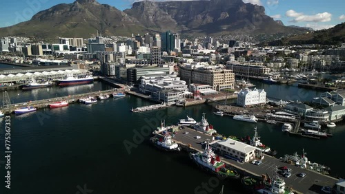
[[[318,13],[315,15],[305,15],[302,12],[295,12],[294,10],[286,11],[287,17],[294,17],[290,22],[302,22],[302,21],[313,21],[313,22],[326,22],[331,21],[332,14],[328,12]]]

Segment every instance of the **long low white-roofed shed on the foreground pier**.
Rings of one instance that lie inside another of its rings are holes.
[[[232,158],[243,162],[249,162],[255,158],[264,158],[264,152],[244,142],[239,142],[228,138],[226,140],[216,140],[210,146],[224,158]]]

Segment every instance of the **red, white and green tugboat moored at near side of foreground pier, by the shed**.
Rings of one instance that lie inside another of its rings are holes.
[[[208,143],[205,145],[204,152],[190,153],[189,156],[201,169],[205,169],[220,177],[230,179],[239,178],[237,171],[226,169],[225,163],[221,162],[219,155],[215,155]]]

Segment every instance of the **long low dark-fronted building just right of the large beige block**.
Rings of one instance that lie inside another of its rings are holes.
[[[226,69],[232,69],[236,75],[264,76],[270,72],[270,68],[262,65],[240,64],[234,61],[226,62]]]

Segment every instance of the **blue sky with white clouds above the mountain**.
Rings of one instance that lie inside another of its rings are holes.
[[[31,19],[40,10],[75,0],[12,0],[1,2],[0,27]],[[130,8],[135,0],[98,0],[119,10]],[[228,0],[231,1],[231,0]],[[284,25],[311,27],[315,30],[331,28],[345,22],[344,0],[243,0],[264,6],[266,14],[283,21]]]

